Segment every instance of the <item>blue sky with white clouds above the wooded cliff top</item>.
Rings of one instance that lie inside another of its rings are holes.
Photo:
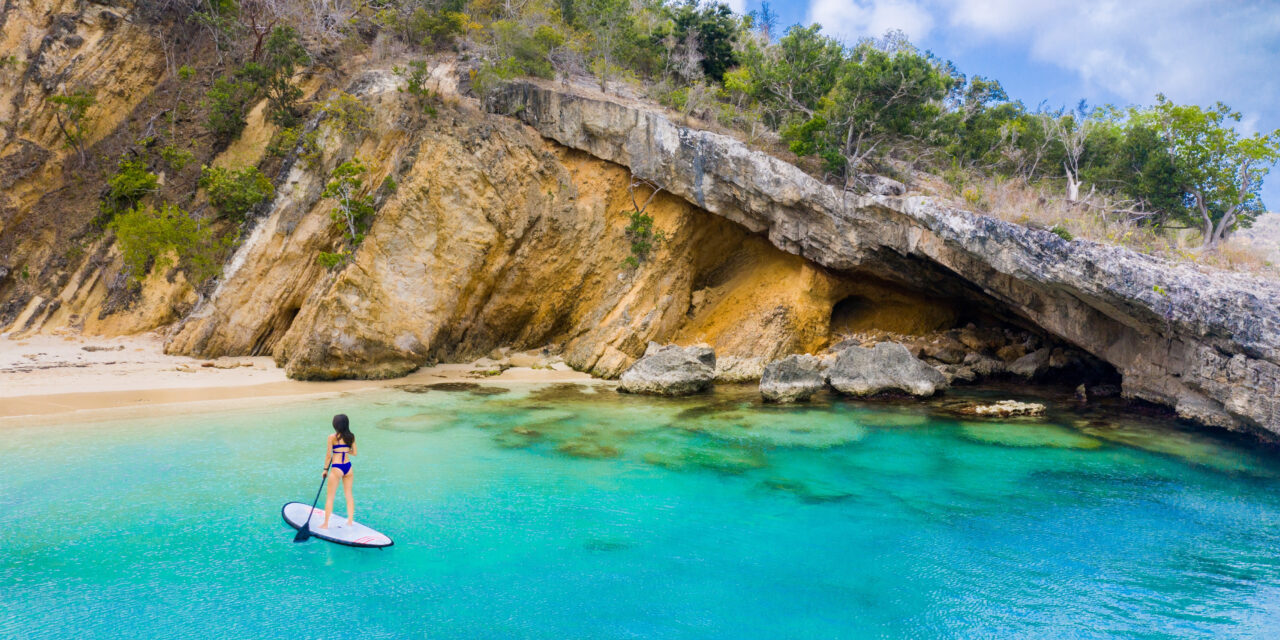
[[[739,12],[760,0],[731,0]],[[899,28],[1030,108],[1219,100],[1247,132],[1280,128],[1280,0],[778,0],[778,27],[854,41]],[[780,31],[781,32],[781,31]],[[1280,210],[1280,170],[1263,187]]]

